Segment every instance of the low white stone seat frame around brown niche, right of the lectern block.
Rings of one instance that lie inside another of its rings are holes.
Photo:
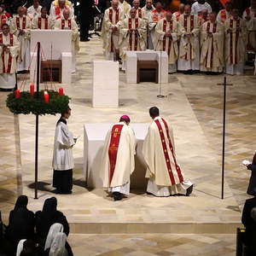
[[[137,83],[137,61],[158,61],[159,83],[168,83],[168,55],[166,51],[125,51],[126,83]]]

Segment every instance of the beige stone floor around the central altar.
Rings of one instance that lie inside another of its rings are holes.
[[[185,176],[195,183],[195,191],[188,198],[159,199],[135,190],[131,191],[125,201],[113,202],[102,189],[91,190],[84,187],[81,137],[73,148],[76,165],[73,195],[57,196],[61,211],[67,215],[72,224],[72,231],[76,233],[72,236],[74,243],[78,239],[78,247],[82,246],[82,238],[79,240],[79,237],[92,237],[98,239],[99,243],[103,240],[108,242],[104,235],[90,236],[78,233],[130,233],[124,235],[127,237],[133,237],[132,233],[148,233],[140,235],[146,240],[146,236],[154,236],[150,233],[156,232],[207,233],[209,235],[203,235],[207,237],[211,236],[211,233],[234,234],[236,226],[240,224],[243,203],[248,198],[246,190],[249,172],[241,166],[241,160],[250,160],[255,152],[256,77],[249,73],[241,77],[227,77],[233,86],[228,89],[227,94],[225,193],[224,200],[221,200],[223,88],[217,84],[223,81],[224,76],[172,74],[169,76],[169,83],[162,84],[166,97],[159,99],[156,97],[159,92],[157,84],[126,84],[125,74],[120,72],[119,108],[91,108],[91,61],[101,59],[102,44],[98,38],[81,44],[73,83],[63,84],[65,93],[72,97],[69,129],[75,135],[83,135],[84,123],[115,122],[124,113],[131,116],[131,122],[149,123],[148,108],[156,105],[161,114],[172,123],[177,158]],[[14,116],[9,113],[5,107],[6,96],[7,93],[0,93],[0,210],[4,221],[14,207],[17,195],[28,195],[29,207],[33,211],[42,208],[45,198],[55,195],[51,192],[51,158],[55,122],[58,119],[57,116],[39,118],[39,199],[34,200],[35,117]],[[120,228],[121,226],[123,228]],[[225,254],[229,255],[236,239],[231,235],[222,236],[227,239],[227,243],[218,236],[213,239],[217,239],[217,243],[219,239],[220,245],[230,248]],[[114,235],[111,237],[114,239]],[[170,239],[172,243],[172,239],[177,240],[180,237],[170,235],[166,239]],[[197,241],[196,236],[194,239],[196,247],[200,240]],[[187,245],[185,242],[183,246]],[[181,252],[168,250],[165,253],[165,250],[160,250],[156,255],[180,255]],[[127,254],[143,255],[134,251]],[[120,253],[113,252],[111,255]]]

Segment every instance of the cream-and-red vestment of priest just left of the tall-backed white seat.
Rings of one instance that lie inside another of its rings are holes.
[[[15,34],[20,42],[20,55],[18,57],[17,71],[28,70],[30,64],[30,31],[32,28],[31,20],[27,16],[15,16],[11,20],[10,32]],[[19,29],[24,31],[21,35]]]

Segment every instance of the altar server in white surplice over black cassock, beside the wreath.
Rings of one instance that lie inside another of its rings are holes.
[[[61,113],[55,129],[55,144],[52,166],[54,169],[53,187],[59,194],[70,194],[73,188],[73,153],[72,148],[76,143],[73,133],[68,130],[67,119],[71,109]]]

